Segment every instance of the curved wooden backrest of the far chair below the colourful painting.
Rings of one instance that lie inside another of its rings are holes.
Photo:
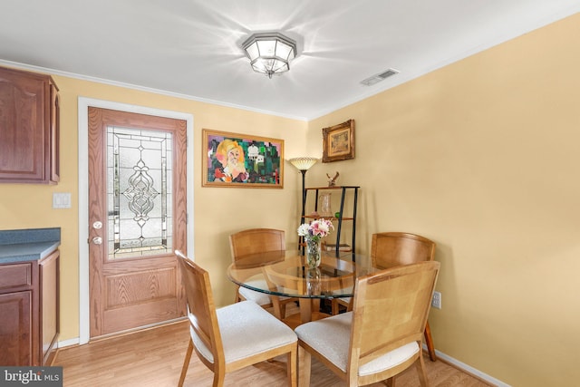
[[[274,228],[250,228],[229,236],[232,260],[249,254],[284,251],[285,232]]]

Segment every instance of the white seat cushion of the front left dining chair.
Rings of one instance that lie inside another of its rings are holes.
[[[219,334],[224,346],[226,363],[297,341],[296,334],[252,301],[242,301],[216,310]],[[208,347],[190,329],[191,339],[198,351],[213,363]]]

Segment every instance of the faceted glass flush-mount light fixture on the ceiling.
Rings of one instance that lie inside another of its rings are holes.
[[[296,42],[279,33],[253,34],[242,48],[250,58],[252,69],[269,78],[290,70],[289,63],[296,56]]]

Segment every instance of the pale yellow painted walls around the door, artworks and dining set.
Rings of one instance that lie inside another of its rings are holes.
[[[62,95],[62,182],[3,185],[0,228],[63,227],[62,340],[78,335],[77,97],[194,116],[195,256],[218,305],[232,301],[227,235],[286,230],[295,242],[300,175],[285,188],[201,188],[202,128],[285,140],[285,158],[319,155],[321,128],[354,119],[356,158],[319,163],[308,185],[360,185],[358,247],[404,230],[438,243],[436,347],[514,386],[580,378],[580,16],[569,17],[311,122],[55,77]],[[304,147],[304,139],[308,139]],[[73,208],[52,209],[53,192]],[[218,203],[218,206],[212,206]]]

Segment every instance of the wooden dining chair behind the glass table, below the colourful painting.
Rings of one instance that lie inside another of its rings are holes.
[[[230,235],[229,247],[233,262],[252,254],[285,251],[285,232],[275,228],[249,228]],[[264,281],[265,284],[256,284],[256,287],[266,286],[266,279],[259,281]],[[297,301],[297,298],[266,295],[237,285],[236,302],[242,300],[253,301],[265,308],[272,307],[275,316],[283,319],[285,318],[285,305]]]

